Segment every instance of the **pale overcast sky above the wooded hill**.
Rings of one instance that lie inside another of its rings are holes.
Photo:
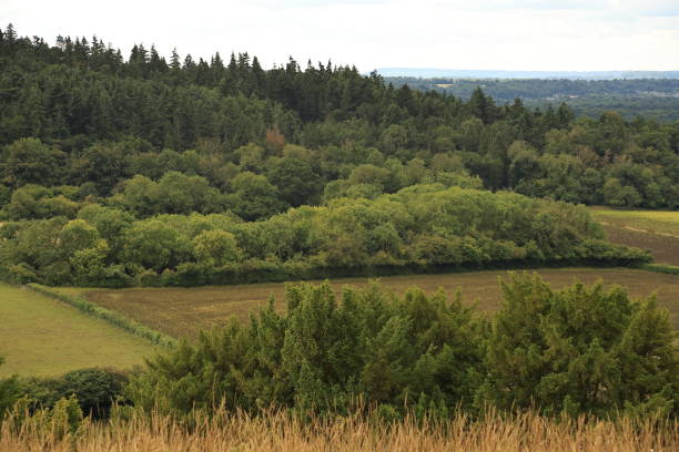
[[[679,70],[679,0],[0,0],[20,35],[377,68]]]

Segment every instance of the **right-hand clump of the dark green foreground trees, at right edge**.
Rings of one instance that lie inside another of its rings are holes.
[[[503,297],[486,355],[485,397],[499,407],[679,413],[676,332],[653,298],[600,284],[554,291],[527,275],[503,282]]]

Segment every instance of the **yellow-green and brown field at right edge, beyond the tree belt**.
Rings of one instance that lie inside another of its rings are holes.
[[[679,212],[591,209],[614,243],[650,249],[657,263],[679,266]]]

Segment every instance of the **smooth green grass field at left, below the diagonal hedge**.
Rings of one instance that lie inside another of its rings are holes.
[[[33,291],[0,282],[0,377],[130,368],[158,351],[145,339]]]

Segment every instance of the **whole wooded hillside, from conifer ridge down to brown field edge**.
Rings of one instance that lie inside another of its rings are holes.
[[[566,203],[679,206],[679,123],[576,119],[480,89],[464,101],[331,62],[227,60],[166,61],[141,44],[125,59],[98,38],[2,31],[4,277],[632,264],[648,256],[604,242]]]

